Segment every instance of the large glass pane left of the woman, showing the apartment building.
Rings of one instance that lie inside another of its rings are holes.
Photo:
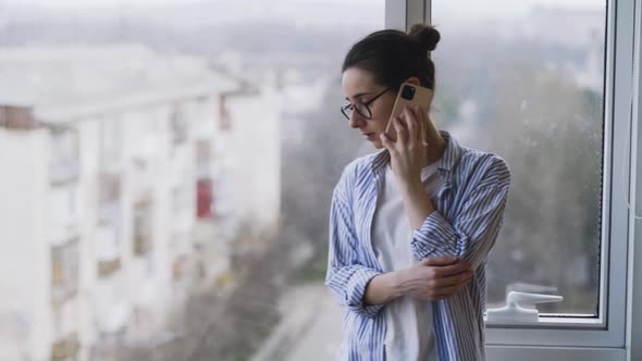
[[[2,1],[0,359],[332,359],[341,65],[384,3]]]

